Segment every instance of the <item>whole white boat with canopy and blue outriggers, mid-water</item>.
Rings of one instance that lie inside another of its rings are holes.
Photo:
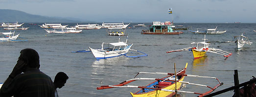
[[[128,35],[127,35],[127,39],[128,39]],[[101,49],[93,49],[93,48],[89,47],[89,50],[81,50],[81,51],[76,51],[76,52],[71,52],[71,53],[92,52],[93,56],[96,59],[114,58],[114,57],[119,57],[119,56],[125,56],[125,57],[128,57],[128,58],[148,56],[147,54],[145,54],[143,52],[131,49],[133,44],[131,44],[131,45],[126,44],[127,39],[126,39],[126,42],[120,42],[120,36],[119,36],[118,42],[114,42],[114,43],[103,42],[101,44]],[[108,44],[108,47],[104,48],[104,44]],[[110,45],[112,45],[114,47],[110,47]],[[142,53],[144,55],[127,56],[127,53],[128,53],[129,50],[137,51],[137,52]]]

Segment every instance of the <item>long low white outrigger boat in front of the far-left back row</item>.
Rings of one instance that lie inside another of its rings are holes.
[[[61,30],[56,30],[56,29],[61,29]],[[45,29],[48,33],[81,33],[82,30],[77,30],[74,27],[70,28],[54,28],[54,30],[48,30]]]

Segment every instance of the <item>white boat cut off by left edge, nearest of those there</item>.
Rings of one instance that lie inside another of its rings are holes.
[[[16,40],[19,37],[20,34],[14,36],[14,33],[15,33],[15,31],[14,32],[10,31],[10,32],[6,32],[6,33],[0,33],[0,34],[5,35],[3,37],[0,37],[0,41],[13,41],[13,40]]]

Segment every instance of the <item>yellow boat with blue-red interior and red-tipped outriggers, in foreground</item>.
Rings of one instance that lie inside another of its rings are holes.
[[[100,86],[97,87],[97,90],[102,90],[102,89],[109,89],[109,88],[140,88],[140,90],[136,93],[130,93],[133,97],[172,97],[177,94],[177,92],[182,92],[182,93],[191,93],[191,94],[197,94],[199,95],[198,97],[203,97],[212,91],[214,91],[216,88],[219,86],[223,85],[217,78],[215,77],[204,77],[204,76],[197,76],[197,75],[186,75],[186,67],[187,63],[184,69],[176,73],[176,67],[174,64],[175,68],[175,73],[149,73],[149,72],[140,72],[138,73],[134,78],[125,80],[117,85],[105,85],[105,86]],[[167,77],[164,78],[136,78],[139,74],[159,74],[159,75],[168,75]],[[196,83],[190,83],[183,81],[185,76],[187,77],[196,77],[196,78],[213,78],[218,81],[218,84],[216,86],[209,87],[207,85],[203,84],[196,84]],[[146,86],[132,86],[132,85],[127,85],[124,86],[128,83],[131,83],[136,80],[155,80],[154,82],[146,85]],[[203,86],[207,87],[210,90],[205,92],[205,93],[196,93],[196,92],[188,92],[188,91],[181,91],[179,90],[182,86],[182,83],[184,84],[191,84],[191,85],[197,85],[197,86]]]

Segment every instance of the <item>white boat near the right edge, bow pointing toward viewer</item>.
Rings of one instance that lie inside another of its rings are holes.
[[[235,39],[237,50],[241,50],[244,44],[249,44],[249,45],[253,44],[253,42],[251,42],[247,37],[243,36],[243,34],[240,36],[235,36],[234,39]]]

